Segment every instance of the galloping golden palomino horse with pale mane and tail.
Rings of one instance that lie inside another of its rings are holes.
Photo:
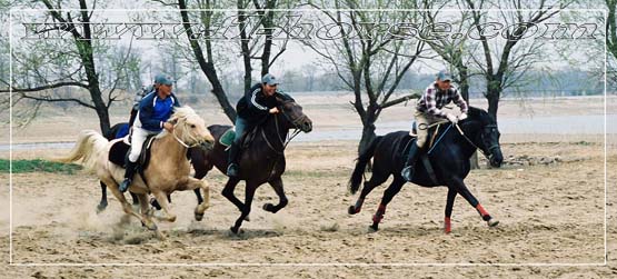
[[[122,192],[118,190],[118,182],[123,180],[125,169],[108,160],[111,146],[119,140],[108,141],[93,130],[83,130],[79,134],[71,153],[60,161],[73,162],[82,160],[87,170],[92,171],[109,188],[113,196],[122,203],[126,213],[137,217],[147,228],[157,230],[149,212],[148,193],[151,192],[161,205],[166,221],[175,221],[176,216],[169,211],[167,195],[180,190],[201,188],[206,199],[195,209],[196,219],[201,219],[209,207],[209,187],[205,181],[189,177],[190,163],[187,150],[191,146],[209,145],[213,138],[206,129],[206,123],[191,108],[176,108],[169,119],[173,123],[173,131],[163,130],[152,142],[150,163],[141,175],[136,175],[129,190],[137,195],[141,213],[136,212]],[[146,182],[143,181],[148,181]]]

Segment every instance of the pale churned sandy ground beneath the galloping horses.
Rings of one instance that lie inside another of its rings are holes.
[[[550,106],[563,108],[568,103]],[[596,104],[591,107],[597,109]],[[507,110],[505,106],[505,113],[515,113]],[[523,113],[520,109],[511,110]],[[33,134],[38,138],[32,141],[59,140],[66,136],[57,136],[54,130],[78,129],[64,129],[63,123],[38,124],[41,130],[37,126],[28,128],[22,131],[26,136],[18,134],[18,139],[28,141],[28,134]],[[347,207],[356,200],[347,193],[356,142],[293,142],[287,152],[290,159],[283,176],[290,203],[276,215],[261,210],[263,203],[276,202],[273,191],[262,186],[256,195],[251,221],[245,222],[245,233],[240,236],[229,233],[239,212],[220,196],[225,177],[216,170],[207,177],[212,187],[212,207],[202,221],[192,220],[192,192],[172,196],[178,220],[159,222],[168,236],[166,240],[155,238],[135,219],[121,223],[119,203],[111,197],[108,209],[97,215],[100,192],[98,181],[90,175],[13,175],[9,259],[9,176],[0,175],[0,207],[4,212],[0,218],[0,250],[6,255],[0,277],[617,277],[617,140],[610,137],[607,145],[605,220],[603,142],[563,138],[554,140],[563,142],[538,142],[537,137],[520,134],[504,138],[501,148],[507,161],[527,163],[474,170],[466,179],[500,225],[487,228],[459,197],[450,235],[441,231],[446,189],[410,183],[390,202],[381,230],[368,232],[386,185],[368,197],[362,212],[347,215]],[[64,152],[27,150],[13,157],[52,158]],[[8,153],[0,152],[0,157]],[[236,195],[242,193],[241,186]],[[9,260],[19,265],[9,266]],[[81,263],[93,265],[71,266]]]

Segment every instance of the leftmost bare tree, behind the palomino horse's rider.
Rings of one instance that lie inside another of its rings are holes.
[[[36,1],[34,7],[42,4],[47,14],[56,22],[52,27],[38,30],[38,32],[64,32],[67,40],[34,41],[28,48],[19,46],[13,51],[14,74],[13,80],[3,79],[7,84],[0,92],[12,92],[14,102],[30,100],[37,109],[48,102],[72,102],[92,109],[97,112],[101,132],[110,128],[109,108],[118,100],[116,84],[121,79],[119,76],[112,81],[111,89],[103,92],[96,56],[107,49],[92,39],[90,19],[92,10],[86,0],[79,0],[79,11],[62,11],[60,2],[53,4],[49,0]],[[96,6],[96,1],[92,3]],[[121,63],[128,60],[127,51]],[[11,88],[9,83],[12,83]],[[72,94],[60,94],[54,89],[79,88],[89,93],[88,98]]]

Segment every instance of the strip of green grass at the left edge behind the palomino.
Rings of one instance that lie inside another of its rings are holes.
[[[0,172],[9,173],[9,160],[0,159]],[[24,172],[54,172],[54,173],[66,173],[73,175],[78,170],[81,170],[81,166],[74,163],[61,163],[52,162],[41,159],[34,160],[13,160],[13,173],[24,173]]]

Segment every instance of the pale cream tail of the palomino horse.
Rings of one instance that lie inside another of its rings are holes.
[[[99,156],[107,150],[109,141],[94,130],[83,130],[79,133],[77,142],[67,157],[57,158],[60,162],[74,162],[82,160],[87,170],[93,171]]]

